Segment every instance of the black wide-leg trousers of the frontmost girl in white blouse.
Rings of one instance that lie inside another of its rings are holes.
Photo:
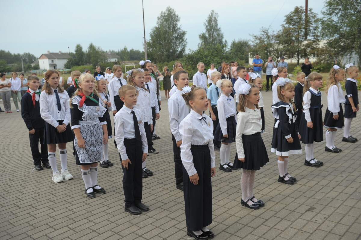
[[[191,183],[183,166],[184,206],[187,227],[191,231],[199,231],[212,223],[210,151],[208,145],[192,145],[191,152],[199,181],[197,185]]]

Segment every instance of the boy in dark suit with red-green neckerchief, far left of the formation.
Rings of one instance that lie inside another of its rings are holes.
[[[29,89],[21,99],[21,117],[29,129],[30,149],[35,170],[40,171],[43,170],[41,163],[45,168],[51,168],[48,160],[48,146],[44,144],[45,123],[40,115],[40,92],[38,92],[40,80],[37,76],[30,75],[27,78],[27,85]],[[39,140],[41,153],[39,152]]]

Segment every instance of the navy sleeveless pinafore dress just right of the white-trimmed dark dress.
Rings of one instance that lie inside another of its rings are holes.
[[[322,123],[322,106],[321,105],[321,92],[314,93],[312,90],[308,90],[311,93],[310,103],[310,117],[313,123],[313,128],[307,127],[307,121],[305,119],[305,113],[302,112],[299,133],[301,135],[301,141],[304,144],[323,141],[323,123]]]

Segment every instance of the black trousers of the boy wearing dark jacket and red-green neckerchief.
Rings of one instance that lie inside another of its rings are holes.
[[[44,128],[35,129],[34,134],[29,133],[29,139],[30,150],[32,159],[34,160],[34,165],[48,163],[48,145],[44,144]],[[39,141],[41,152],[39,152]]]

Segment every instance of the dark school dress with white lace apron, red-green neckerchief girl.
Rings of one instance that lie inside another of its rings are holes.
[[[71,126],[80,128],[80,133],[85,141],[86,148],[78,146],[78,139],[74,139],[75,159],[77,165],[90,165],[103,160],[103,128],[106,109],[99,103],[87,98],[82,107],[82,96],[77,95],[71,99]],[[99,102],[99,98],[93,97]]]

